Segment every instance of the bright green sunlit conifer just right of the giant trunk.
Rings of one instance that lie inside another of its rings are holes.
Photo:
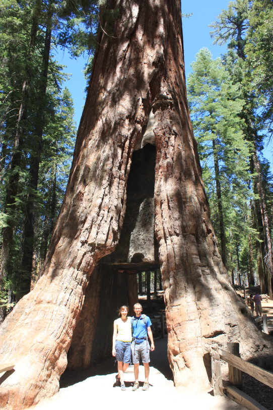
[[[213,61],[206,48],[196,55],[187,88],[204,183],[213,210],[212,220],[220,239],[223,262],[228,267],[226,236],[230,242],[231,232],[236,229],[236,213],[245,216],[245,203],[251,197],[249,144],[243,138],[242,120],[238,115],[244,101],[220,58]]]

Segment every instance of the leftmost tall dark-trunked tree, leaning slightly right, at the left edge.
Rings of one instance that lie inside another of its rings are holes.
[[[6,3],[6,2],[5,2]],[[3,6],[5,7],[5,3]],[[13,243],[13,235],[14,235],[14,228],[15,228],[15,220],[16,220],[16,208],[17,208],[17,200],[18,200],[18,188],[19,188],[19,179],[20,179],[20,172],[21,172],[21,161],[23,155],[23,146],[24,146],[24,127],[26,122],[26,115],[28,109],[28,102],[29,102],[29,86],[32,80],[32,73],[33,73],[33,55],[35,52],[35,43],[36,43],[36,36],[38,30],[38,18],[40,8],[36,7],[34,3],[31,3],[28,8],[24,11],[21,11],[20,7],[18,6],[17,2],[13,2],[13,4],[7,4],[7,12],[4,14],[2,18],[2,33],[4,32],[4,27],[6,28],[5,34],[2,36],[8,36],[8,47],[6,45],[2,45],[4,48],[4,56],[7,55],[10,67],[9,72],[13,71],[13,76],[15,76],[18,70],[18,67],[14,67],[12,54],[15,53],[19,54],[19,49],[21,49],[21,53],[24,55],[24,60],[21,56],[20,62],[23,66],[23,70],[21,68],[21,72],[19,73],[19,105],[18,105],[18,114],[16,123],[14,124],[14,136],[13,136],[13,152],[11,155],[10,165],[9,165],[9,172],[6,175],[8,179],[7,188],[6,188],[6,200],[5,200],[5,208],[4,212],[6,215],[5,225],[3,227],[3,242],[2,242],[2,252],[1,252],[1,270],[0,270],[0,278],[1,278],[1,287],[3,287],[5,279],[11,275],[11,250],[12,250],[12,243]],[[30,18],[28,17],[28,13],[30,13]],[[7,14],[9,16],[8,20]],[[21,14],[21,16],[20,16]],[[21,21],[18,21],[18,17],[21,17]],[[28,25],[29,28],[29,37],[27,38],[27,33],[22,33],[22,35],[14,40],[15,31],[17,26],[14,27],[14,23],[17,19],[17,23],[19,26],[25,23]],[[14,47],[14,42],[16,41],[16,46]],[[6,44],[6,43],[4,43]],[[15,48],[15,49],[14,49]],[[14,70],[15,69],[15,70]],[[20,81],[21,80],[21,81]],[[13,79],[14,81],[14,79]],[[18,94],[18,93],[16,93]],[[17,101],[16,101],[17,102]],[[12,108],[14,110],[14,114],[16,111],[16,106]]]

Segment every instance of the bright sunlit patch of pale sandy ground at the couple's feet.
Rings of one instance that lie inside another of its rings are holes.
[[[35,410],[72,410],[77,408],[122,408],[140,407],[167,409],[168,406],[179,405],[180,408],[190,408],[191,410],[243,410],[245,407],[236,404],[223,396],[213,397],[210,394],[185,395],[177,391],[170,380],[167,380],[162,373],[151,367],[150,388],[142,391],[141,387],[137,391],[132,391],[127,387],[126,391],[121,391],[119,387],[112,387],[115,373],[104,376],[93,376],[76,383],[73,386],[61,388],[59,392],[40,404],[32,406]],[[133,381],[133,369],[126,372],[126,380]],[[140,368],[140,380],[144,380],[143,366]],[[126,385],[128,386],[128,382]],[[136,400],[136,401],[135,401]],[[126,404],[127,403],[127,404]],[[141,404],[142,403],[142,404]]]

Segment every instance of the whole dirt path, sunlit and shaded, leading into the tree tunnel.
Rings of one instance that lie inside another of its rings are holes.
[[[100,410],[126,407],[127,401],[129,406],[138,407],[133,403],[140,403],[140,405],[143,403],[145,407],[157,410],[168,409],[170,405],[191,410],[245,410],[245,407],[226,397],[213,397],[209,393],[197,394],[197,392],[195,395],[186,395],[179,392],[173,386],[173,382],[168,380],[171,371],[167,360],[167,337],[156,340],[156,350],[151,355],[153,355],[151,364],[154,367],[151,367],[148,391],[142,391],[141,388],[137,391],[131,390],[131,382],[134,381],[132,366],[126,371],[126,391],[113,387],[116,372],[114,372],[113,361],[108,361],[102,367],[100,366],[100,373],[104,372],[104,374],[92,375],[96,369],[91,372],[67,373],[61,380],[61,385],[67,387],[60,388],[55,396],[43,400],[31,409],[74,410],[96,407]],[[166,377],[157,367],[165,373]],[[140,381],[144,381],[143,366],[140,366]]]

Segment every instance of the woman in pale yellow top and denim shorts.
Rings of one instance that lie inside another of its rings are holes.
[[[131,318],[127,317],[128,307],[121,306],[119,309],[120,318],[114,321],[114,333],[113,333],[113,350],[112,355],[117,360],[118,375],[116,375],[116,381],[120,382],[121,390],[126,390],[123,373],[128,368],[131,361]]]

